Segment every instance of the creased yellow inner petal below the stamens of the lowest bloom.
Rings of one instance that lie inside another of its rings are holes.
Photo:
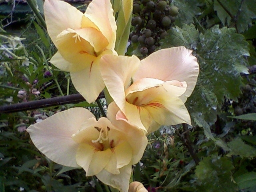
[[[109,163],[112,151],[96,151],[94,146],[82,143],[76,153],[76,162],[86,172],[86,176],[93,176],[101,172]]]

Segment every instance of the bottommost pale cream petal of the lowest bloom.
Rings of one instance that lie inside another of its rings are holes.
[[[102,170],[96,174],[96,177],[104,184],[117,188],[120,192],[127,192],[131,173],[132,165],[129,164],[120,168],[120,174],[111,174],[106,170]]]

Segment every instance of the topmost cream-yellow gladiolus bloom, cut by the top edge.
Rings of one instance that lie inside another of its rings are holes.
[[[92,0],[84,14],[64,1],[45,0],[44,17],[58,49],[50,62],[70,72],[76,90],[93,102],[104,88],[100,56],[116,54],[117,26],[110,0]]]

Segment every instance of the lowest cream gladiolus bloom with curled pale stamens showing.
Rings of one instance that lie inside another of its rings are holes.
[[[98,121],[85,108],[71,108],[30,125],[34,145],[50,160],[83,168],[86,176],[127,192],[132,171],[144,153],[147,138],[138,128],[116,120],[109,106],[108,118]]]

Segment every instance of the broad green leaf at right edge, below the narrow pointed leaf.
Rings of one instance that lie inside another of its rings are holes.
[[[252,158],[256,156],[256,148],[245,144],[241,138],[235,138],[231,142],[228,142],[230,152],[227,154],[228,157],[232,155],[239,155],[240,157]]]

